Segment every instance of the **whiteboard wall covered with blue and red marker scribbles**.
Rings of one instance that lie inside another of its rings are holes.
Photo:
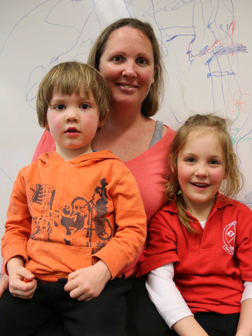
[[[13,181],[43,132],[40,80],[57,62],[85,62],[99,32],[128,16],[151,22],[162,46],[169,80],[155,119],[176,128],[192,111],[221,111],[235,120],[230,131],[246,178],[237,198],[252,207],[251,13],[251,0],[1,1],[0,236]]]

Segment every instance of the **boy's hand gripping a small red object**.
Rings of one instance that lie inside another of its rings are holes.
[[[24,258],[16,256],[7,263],[9,273],[9,291],[13,296],[31,299],[37,288],[37,280],[31,271],[24,267]],[[28,280],[28,282],[24,280]]]

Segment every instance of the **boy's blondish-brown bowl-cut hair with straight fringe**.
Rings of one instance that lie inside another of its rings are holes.
[[[101,74],[90,65],[69,61],[54,66],[42,79],[37,94],[37,115],[39,125],[47,125],[47,109],[52,91],[71,95],[82,89],[87,96],[93,94],[99,111],[99,123],[103,125],[108,116],[110,93]]]

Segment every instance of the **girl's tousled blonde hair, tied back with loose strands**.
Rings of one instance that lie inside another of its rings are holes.
[[[171,143],[168,160],[173,173],[166,183],[166,198],[172,201],[173,195],[175,194],[178,217],[181,223],[191,233],[195,233],[196,231],[190,225],[185,213],[186,203],[180,192],[181,188],[178,182],[177,158],[187,141],[192,139],[192,132],[197,132],[196,136],[199,136],[207,134],[210,131],[215,133],[223,150],[224,180],[220,192],[227,197],[234,197],[241,190],[244,183],[243,174],[239,168],[238,158],[234,151],[232,138],[228,130],[227,120],[214,114],[196,114],[188,118],[184,125],[179,128]]]

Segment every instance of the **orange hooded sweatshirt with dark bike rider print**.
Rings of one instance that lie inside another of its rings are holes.
[[[40,282],[102,259],[112,274],[140,251],[146,215],[130,170],[110,151],[65,161],[56,152],[20,170],[2,238],[4,268],[21,255]],[[7,273],[8,274],[8,273]]]

